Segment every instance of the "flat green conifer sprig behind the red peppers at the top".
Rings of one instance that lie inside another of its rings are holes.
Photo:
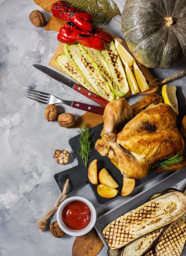
[[[121,16],[113,0],[64,0],[64,2],[81,12],[92,14],[96,25],[106,25],[111,19],[116,20],[114,16]]]

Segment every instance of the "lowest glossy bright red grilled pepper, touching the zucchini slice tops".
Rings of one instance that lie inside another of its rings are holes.
[[[72,28],[60,28],[57,39],[63,44],[82,44],[86,47],[91,47],[102,51],[106,47],[106,41],[96,37],[95,35],[80,34],[79,31]]]

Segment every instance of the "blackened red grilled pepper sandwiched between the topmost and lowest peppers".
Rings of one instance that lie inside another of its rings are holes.
[[[104,31],[103,29],[98,28],[97,26],[93,26],[92,31],[89,32],[78,28],[73,22],[67,22],[65,23],[64,28],[71,28],[72,30],[76,31],[81,35],[94,35],[98,38],[103,39],[104,41],[106,41],[106,43],[110,43],[112,41],[112,35]]]

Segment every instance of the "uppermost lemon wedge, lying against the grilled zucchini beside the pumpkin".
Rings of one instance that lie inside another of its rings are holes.
[[[117,49],[117,52],[120,56],[121,61],[123,62],[123,64],[125,65],[125,63],[127,62],[129,67],[132,66],[134,64],[134,58],[130,55],[129,52],[127,52],[127,50],[125,49],[125,47],[123,47],[123,45],[121,45],[117,39],[114,38],[114,44],[115,47]]]

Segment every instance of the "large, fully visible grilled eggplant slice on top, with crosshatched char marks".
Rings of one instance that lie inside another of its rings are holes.
[[[112,250],[118,249],[176,221],[185,214],[185,205],[182,192],[160,195],[112,221],[103,229],[103,236]]]

